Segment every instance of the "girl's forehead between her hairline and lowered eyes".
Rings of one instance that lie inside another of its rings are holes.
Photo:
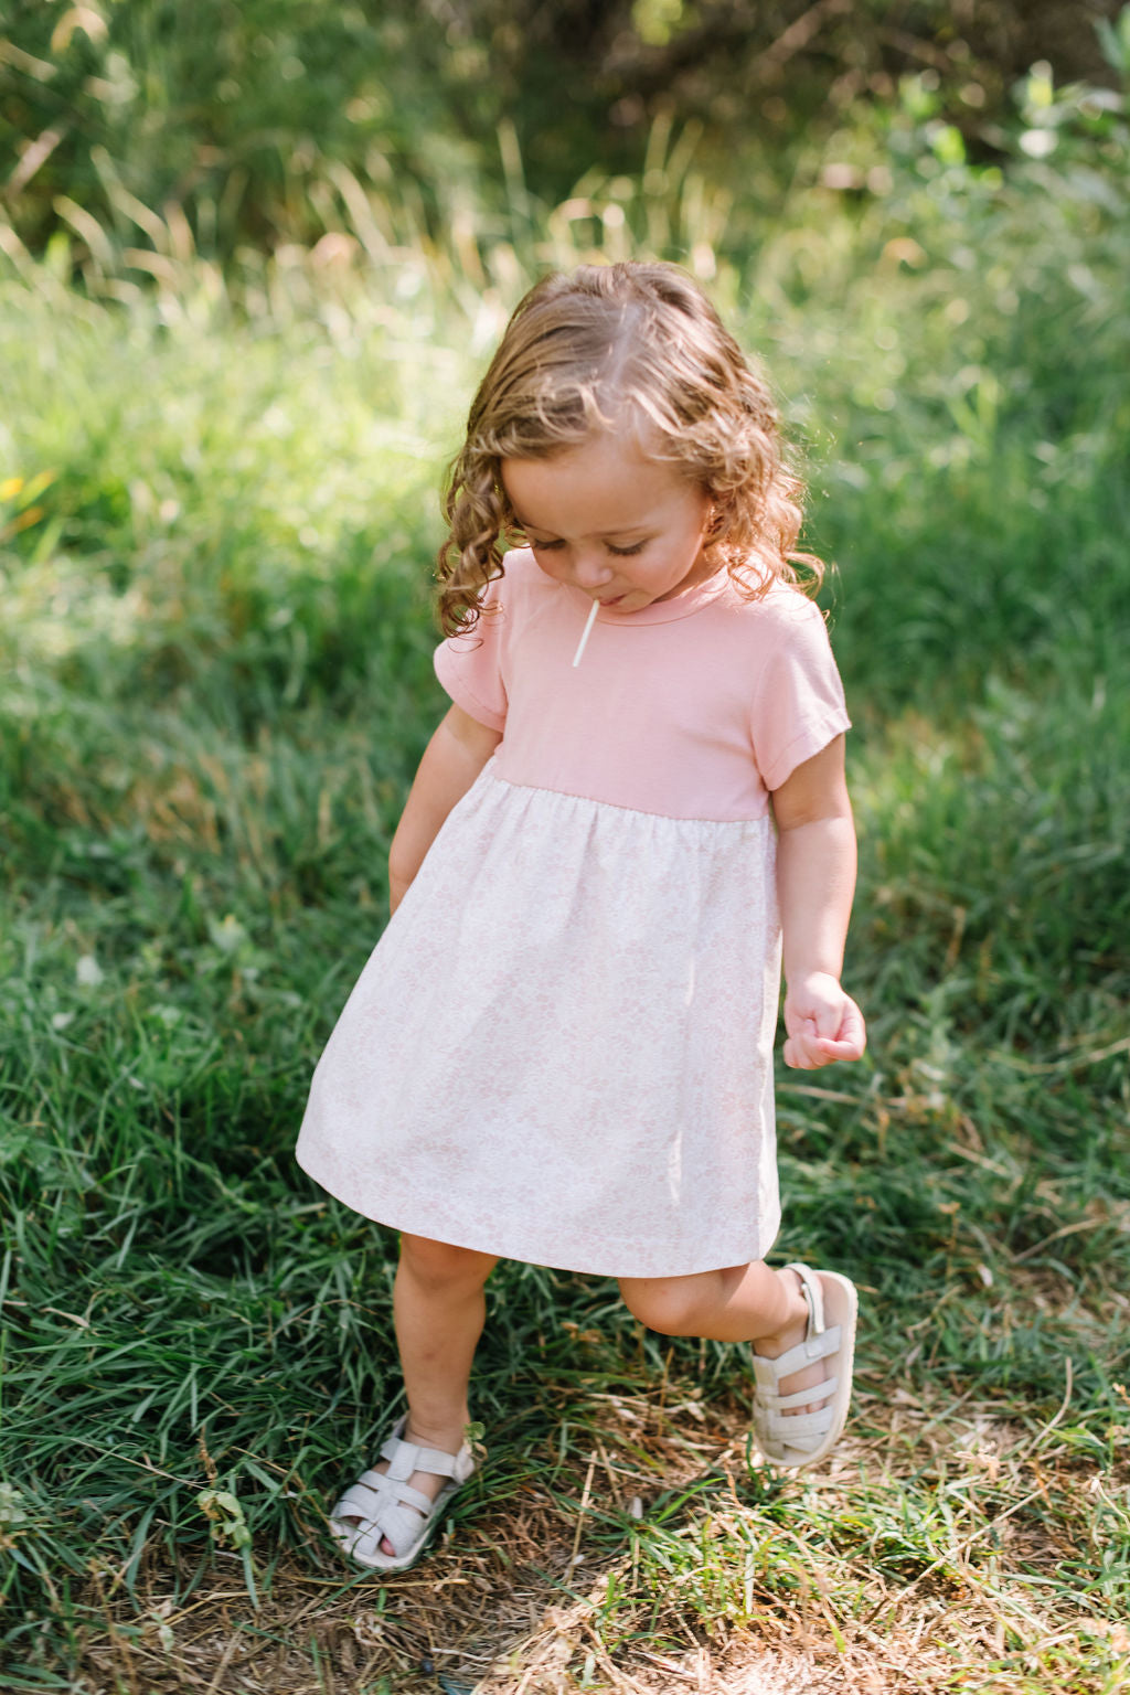
[[[600,434],[544,459],[503,459],[501,481],[530,529],[615,536],[667,515],[696,492],[667,461],[630,436]]]

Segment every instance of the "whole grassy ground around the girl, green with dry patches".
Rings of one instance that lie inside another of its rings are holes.
[[[618,1688],[756,1653],[813,1687],[915,1653],[928,1690],[1120,1687],[1127,241],[1081,181],[1120,193],[1101,159],[908,166],[859,212],[798,188],[717,264],[805,442],[859,724],[872,1049],[779,1095],[779,1249],[866,1287],[842,1458],[751,1471],[737,1351],[507,1266],[491,1464],[385,1588],[322,1514],[398,1392],[395,1242],[291,1146],[440,710],[434,490],[549,249],[485,244],[485,293],[444,253],[249,261],[239,307],[191,259],[117,303],[7,276],[7,1687],[207,1688],[237,1639],[241,1687],[274,1690],[434,1687],[425,1654]]]

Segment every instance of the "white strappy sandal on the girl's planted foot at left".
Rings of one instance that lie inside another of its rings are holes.
[[[374,1571],[407,1571],[439,1524],[440,1509],[474,1471],[474,1456],[466,1442],[457,1454],[418,1448],[402,1441],[407,1422],[405,1414],[381,1448],[388,1471],[363,1471],[329,1520],[330,1536],[342,1551]],[[429,1500],[424,1490],[412,1488],[408,1478],[413,1471],[447,1478],[435,1500]],[[385,1539],[393,1544],[395,1554],[381,1553]]]

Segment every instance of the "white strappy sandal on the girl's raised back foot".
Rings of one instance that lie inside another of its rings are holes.
[[[856,1285],[839,1271],[813,1271],[800,1263],[788,1264],[786,1271],[796,1271],[801,1281],[808,1302],[808,1331],[803,1342],[776,1359],[754,1353],[754,1434],[774,1466],[815,1466],[830,1453],[847,1424],[859,1297]],[[817,1359],[832,1363],[832,1375],[823,1383],[791,1395],[778,1393],[781,1378],[803,1371]],[[817,1412],[793,1410],[811,1405],[817,1405]]]

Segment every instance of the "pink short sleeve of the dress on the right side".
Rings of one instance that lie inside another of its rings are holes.
[[[795,590],[761,668],[751,729],[757,770],[769,790],[850,729],[820,609]]]

